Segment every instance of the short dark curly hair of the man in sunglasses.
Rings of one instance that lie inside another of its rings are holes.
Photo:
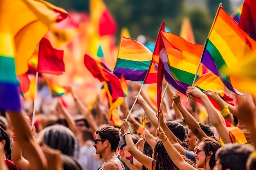
[[[114,128],[113,126],[106,126],[104,128],[97,129],[96,134],[99,134],[101,139],[106,139],[109,141],[112,151],[117,150],[120,141],[119,129]]]

